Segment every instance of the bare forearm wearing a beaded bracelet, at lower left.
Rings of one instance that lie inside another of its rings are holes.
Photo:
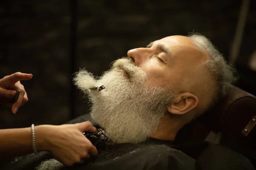
[[[44,143],[44,139],[40,134],[42,128],[43,126],[35,127],[38,151],[42,150],[42,143]],[[0,130],[0,160],[32,152],[31,127]]]

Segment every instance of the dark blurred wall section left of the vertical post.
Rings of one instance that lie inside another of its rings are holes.
[[[3,108],[0,128],[61,124],[69,116],[70,10],[62,0],[2,0],[0,75],[31,73],[22,81],[29,102],[16,115]]]

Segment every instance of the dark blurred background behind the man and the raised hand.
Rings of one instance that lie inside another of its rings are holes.
[[[59,125],[88,112],[72,74],[95,75],[132,48],[197,31],[230,55],[241,0],[1,0],[0,77],[31,73],[22,81],[29,102],[17,114],[0,108],[0,128]],[[256,1],[251,0],[239,59],[240,88],[256,95]]]

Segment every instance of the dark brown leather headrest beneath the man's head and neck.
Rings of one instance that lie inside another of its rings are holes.
[[[256,97],[233,86],[210,111],[190,124],[187,140],[202,141],[210,131],[213,131],[224,133],[241,142],[256,143],[256,125],[251,128],[252,130],[247,129],[247,132],[244,132],[245,127],[253,123],[254,116],[256,116]],[[247,136],[244,133],[247,133]]]

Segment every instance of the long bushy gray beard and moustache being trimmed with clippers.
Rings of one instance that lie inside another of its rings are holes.
[[[154,134],[175,98],[170,87],[148,85],[150,75],[128,58],[118,59],[101,77],[76,73],[75,85],[92,103],[91,117],[114,143],[140,143]],[[98,92],[89,88],[105,86]]]

